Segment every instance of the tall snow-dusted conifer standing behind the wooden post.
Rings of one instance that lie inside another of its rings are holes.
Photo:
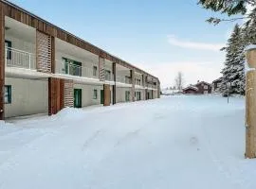
[[[224,48],[227,54],[224,63],[225,67],[221,72],[223,74],[221,83],[222,94],[245,94],[244,49],[246,43],[244,39],[243,28],[236,25],[229,38],[227,47]]]

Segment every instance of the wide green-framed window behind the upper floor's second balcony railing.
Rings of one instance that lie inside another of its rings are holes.
[[[63,58],[63,72],[71,76],[82,77],[82,62]]]

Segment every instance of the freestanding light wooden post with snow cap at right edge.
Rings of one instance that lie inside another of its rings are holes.
[[[247,50],[246,158],[256,158],[256,48]]]

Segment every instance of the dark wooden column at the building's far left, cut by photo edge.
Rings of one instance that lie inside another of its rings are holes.
[[[5,119],[5,14],[0,2],[0,120]]]

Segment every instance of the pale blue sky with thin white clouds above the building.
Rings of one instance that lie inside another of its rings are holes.
[[[220,77],[233,23],[211,26],[216,13],[197,0],[11,0],[47,21],[174,85]]]

